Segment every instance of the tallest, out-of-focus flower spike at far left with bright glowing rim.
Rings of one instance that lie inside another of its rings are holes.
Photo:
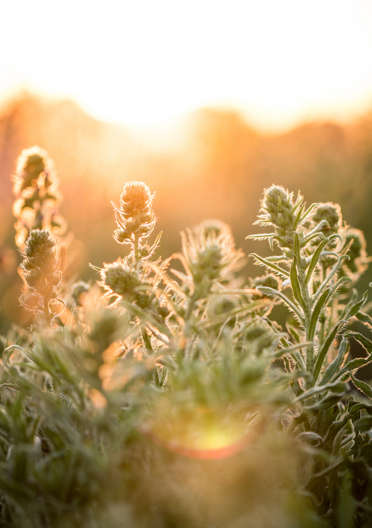
[[[65,223],[58,212],[61,201],[53,162],[45,150],[33,146],[18,157],[13,177],[16,198],[13,214],[17,218],[15,241],[24,249],[31,229],[48,229],[54,234],[64,231]]]

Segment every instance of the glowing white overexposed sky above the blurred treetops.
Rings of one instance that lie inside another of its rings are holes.
[[[344,119],[372,107],[371,28],[372,0],[0,0],[0,97],[134,125],[200,106]]]

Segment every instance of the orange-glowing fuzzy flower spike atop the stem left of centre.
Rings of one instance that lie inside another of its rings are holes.
[[[154,230],[156,223],[152,210],[153,197],[154,194],[150,193],[145,183],[127,182],[120,196],[120,206],[111,202],[117,223],[114,239],[119,244],[131,244],[129,258],[132,262],[146,261],[159,244],[161,233],[152,247],[143,243]]]

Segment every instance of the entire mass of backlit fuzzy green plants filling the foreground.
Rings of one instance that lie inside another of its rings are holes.
[[[266,275],[244,285],[218,221],[157,258],[154,195],[128,182],[113,204],[126,254],[72,285],[45,152],[23,153],[14,192],[33,323],[1,341],[2,526],[370,526],[372,388],[358,369],[372,319],[354,288],[368,258],[338,205],[264,190],[256,223],[272,231],[248,239],[273,255],[253,255]]]

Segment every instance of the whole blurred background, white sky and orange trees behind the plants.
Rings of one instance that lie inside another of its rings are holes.
[[[0,6],[0,331],[24,322],[11,175],[23,148],[54,159],[73,263],[96,280],[125,254],[110,201],[156,192],[160,253],[207,218],[246,254],[264,187],[341,204],[372,250],[372,4],[108,0]],[[252,264],[247,278],[261,274]],[[368,287],[366,272],[359,286]]]

